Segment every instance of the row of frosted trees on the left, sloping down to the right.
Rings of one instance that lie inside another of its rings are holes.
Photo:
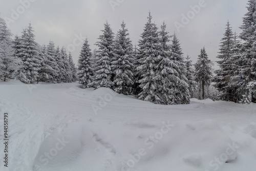
[[[31,24],[22,36],[11,38],[4,19],[0,18],[0,79],[17,78],[24,83],[73,82],[76,68],[71,53],[62,47],[55,48],[54,42],[40,46],[35,41]]]

